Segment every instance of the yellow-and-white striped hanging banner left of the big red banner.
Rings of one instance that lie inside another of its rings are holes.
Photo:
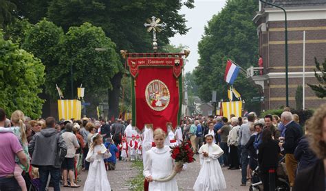
[[[58,100],[59,118],[80,119],[81,118],[81,102],[77,99],[59,99]]]

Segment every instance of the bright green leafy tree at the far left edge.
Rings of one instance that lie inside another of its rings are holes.
[[[38,94],[42,92],[44,68],[18,44],[3,40],[0,31],[0,107],[8,114],[22,110],[26,116],[39,118],[43,100]]]

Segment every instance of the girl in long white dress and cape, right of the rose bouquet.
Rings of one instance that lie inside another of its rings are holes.
[[[226,181],[218,158],[223,150],[213,142],[213,136],[205,136],[206,144],[199,149],[200,171],[193,186],[196,191],[219,191],[226,189]]]

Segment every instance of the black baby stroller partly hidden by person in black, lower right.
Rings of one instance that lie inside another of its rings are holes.
[[[287,179],[287,172],[285,168],[285,157],[279,160],[279,165],[276,169],[276,191],[290,191],[290,183]],[[252,171],[252,183],[249,187],[249,191],[263,191],[263,181],[259,177],[259,166]]]

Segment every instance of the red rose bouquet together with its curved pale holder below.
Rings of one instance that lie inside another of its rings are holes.
[[[195,159],[193,158],[193,149],[191,149],[191,142],[190,141],[184,141],[180,145],[171,148],[171,157],[175,160],[175,165],[182,168],[184,163],[191,163],[194,162]],[[171,175],[168,177],[164,177],[162,179],[154,179],[154,181],[164,182],[164,181],[170,181],[177,175],[177,172],[173,170]]]

